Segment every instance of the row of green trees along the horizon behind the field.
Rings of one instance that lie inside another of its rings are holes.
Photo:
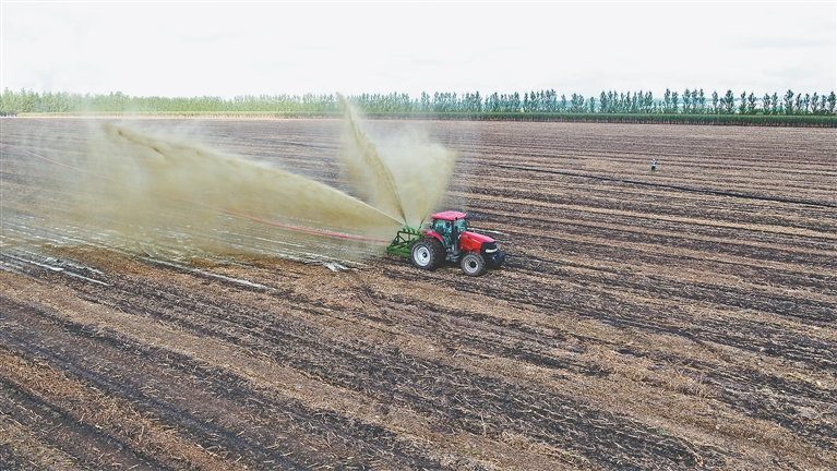
[[[788,90],[758,97],[754,92],[737,96],[703,88],[683,94],[666,89],[662,98],[650,92],[601,92],[598,97],[572,94],[560,97],[554,89],[531,90],[521,96],[479,92],[422,93],[418,98],[408,94],[362,94],[348,97],[349,101],[372,113],[617,113],[617,114],[763,114],[763,116],[834,116],[837,97],[828,95],[794,94]],[[232,99],[219,97],[165,98],[131,97],[121,92],[109,95],[81,95],[71,93],[39,94],[22,89],[4,89],[0,96],[0,113],[332,113],[339,112],[335,95],[243,95]]]

